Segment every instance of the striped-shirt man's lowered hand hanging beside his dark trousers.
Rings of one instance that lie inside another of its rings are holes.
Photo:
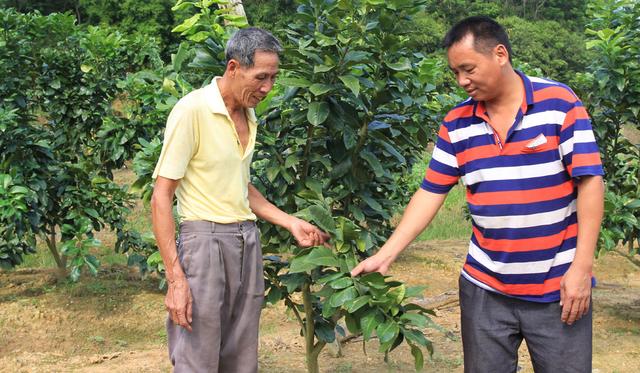
[[[569,267],[560,281],[562,322],[571,325],[580,320],[591,304],[591,272]]]

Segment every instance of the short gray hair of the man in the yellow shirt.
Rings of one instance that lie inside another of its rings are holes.
[[[252,67],[256,51],[280,53],[282,46],[269,31],[258,27],[248,27],[236,31],[227,42],[225,57],[227,62],[234,59],[241,66]]]

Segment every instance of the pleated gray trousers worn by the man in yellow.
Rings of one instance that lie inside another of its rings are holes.
[[[178,258],[193,296],[193,331],[167,318],[174,372],[257,372],[264,277],[255,222],[184,222]]]

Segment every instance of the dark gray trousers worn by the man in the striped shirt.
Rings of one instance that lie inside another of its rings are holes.
[[[536,373],[591,373],[591,307],[573,325],[558,302],[536,303],[485,290],[460,277],[465,373],[511,373],[527,342]]]

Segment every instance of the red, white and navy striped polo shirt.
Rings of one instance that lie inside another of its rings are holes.
[[[525,95],[504,144],[471,98],[445,117],[421,187],[467,190],[473,233],[462,275],[535,302],[560,299],[576,251],[576,182],[603,175],[584,106],[567,86],[517,72]]]

